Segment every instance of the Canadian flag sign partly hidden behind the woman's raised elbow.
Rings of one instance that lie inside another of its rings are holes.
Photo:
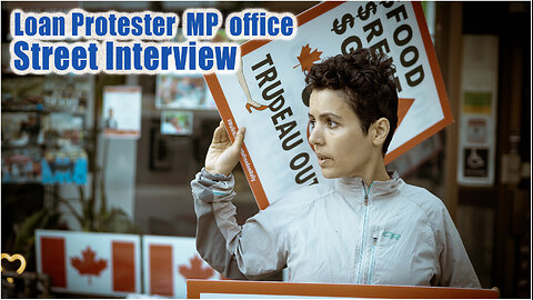
[[[142,237],[144,292],[187,297],[187,279],[224,279],[197,251],[194,238]]]

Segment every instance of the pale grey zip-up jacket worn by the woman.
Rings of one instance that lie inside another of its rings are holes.
[[[191,182],[197,249],[229,278],[286,266],[292,282],[481,288],[442,201],[395,172],[366,197],[361,178],[300,189],[242,227],[233,186],[232,176],[205,170]]]

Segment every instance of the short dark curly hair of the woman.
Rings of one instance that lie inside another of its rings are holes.
[[[398,126],[394,72],[392,59],[381,52],[360,48],[314,64],[305,76],[305,90],[342,90],[361,120],[364,133],[369,133],[370,126],[378,119],[386,118],[391,130],[383,143],[384,156]]]

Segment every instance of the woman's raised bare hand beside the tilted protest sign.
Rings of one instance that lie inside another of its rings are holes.
[[[235,141],[232,143],[225,131],[224,123],[220,121],[219,127],[214,130],[213,140],[205,157],[205,170],[208,172],[229,176],[233,171],[239,162],[245,131],[247,129],[241,127],[237,132]]]

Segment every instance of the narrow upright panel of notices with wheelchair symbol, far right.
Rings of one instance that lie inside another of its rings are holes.
[[[494,184],[499,38],[463,37],[462,93],[459,110],[457,182]]]

